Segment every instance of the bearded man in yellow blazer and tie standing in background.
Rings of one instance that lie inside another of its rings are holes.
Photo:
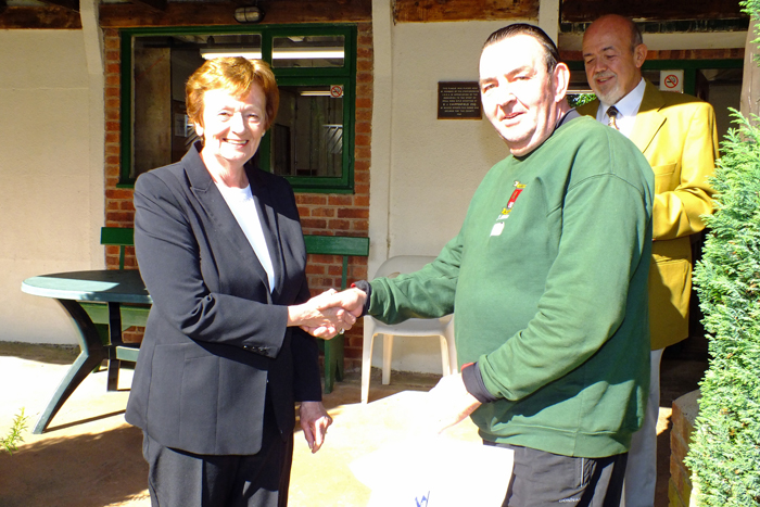
[[[654,505],[660,359],[666,346],[688,337],[689,237],[702,230],[700,216],[712,211],[708,179],[718,157],[712,106],[683,93],[660,91],[642,78],[646,53],[642,34],[630,20],[606,15],[592,23],[583,36],[583,60],[597,100],[578,109],[631,139],[655,173],[651,383],[644,427],[631,444],[625,507]]]

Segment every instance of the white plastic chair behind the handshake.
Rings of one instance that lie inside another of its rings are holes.
[[[414,272],[435,257],[427,255],[397,255],[378,268],[375,277],[393,278],[403,272]],[[443,375],[456,373],[457,358],[454,343],[454,314],[434,319],[411,318],[396,325],[383,324],[367,315],[364,317],[364,344],[362,347],[362,403],[369,400],[369,373],[372,367],[375,337],[382,334],[382,383],[391,383],[391,356],[393,337],[439,337]]]

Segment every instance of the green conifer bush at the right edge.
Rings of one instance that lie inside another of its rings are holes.
[[[694,270],[710,362],[686,465],[709,507],[760,506],[760,118],[732,115]]]

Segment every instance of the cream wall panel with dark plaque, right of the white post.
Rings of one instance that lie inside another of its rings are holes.
[[[438,83],[477,81],[481,46],[502,26],[395,27],[390,255],[438,254],[459,231],[482,177],[508,155],[485,117],[436,119]]]

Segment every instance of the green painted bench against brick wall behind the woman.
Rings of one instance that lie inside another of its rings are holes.
[[[341,290],[347,286],[349,257],[368,256],[369,238],[355,238],[349,236],[304,236],[306,252],[317,255],[343,256],[341,270]],[[103,245],[119,246],[119,269],[124,269],[126,246],[135,244],[135,229],[103,227],[100,232],[100,243]],[[104,304],[83,303],[89,317],[98,327],[103,343],[111,345],[109,357],[107,390],[115,391],[118,384],[118,368],[122,360],[136,362],[139,354],[138,344],[125,344],[121,337],[122,331],[131,326],[145,326],[149,307],[122,305],[121,330],[109,330],[109,308]],[[339,334],[332,340],[319,340],[320,348],[325,353],[325,393],[332,392],[335,381],[343,380],[345,362],[343,357],[344,338]]]

